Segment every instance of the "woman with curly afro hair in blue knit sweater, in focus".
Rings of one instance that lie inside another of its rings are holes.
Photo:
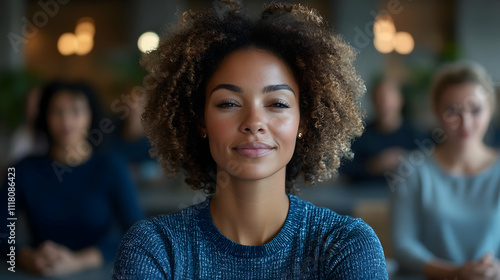
[[[316,10],[188,11],[142,58],[142,116],[165,172],[207,193],[132,227],[115,279],[387,279],[362,220],[297,198],[336,175],[363,131],[354,51]]]

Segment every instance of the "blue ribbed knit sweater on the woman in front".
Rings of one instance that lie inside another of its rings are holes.
[[[288,195],[280,232],[260,246],[225,237],[211,197],[135,224],[120,245],[114,279],[388,279],[384,253],[362,220]]]

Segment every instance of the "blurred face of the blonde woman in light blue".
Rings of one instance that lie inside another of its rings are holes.
[[[475,83],[449,86],[437,104],[438,119],[449,141],[460,146],[483,141],[491,120],[487,92]]]

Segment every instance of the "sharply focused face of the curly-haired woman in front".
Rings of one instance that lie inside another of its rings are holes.
[[[206,87],[204,133],[218,170],[258,180],[285,171],[298,134],[299,87],[273,53],[237,50]]]

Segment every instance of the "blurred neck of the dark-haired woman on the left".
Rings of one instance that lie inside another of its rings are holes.
[[[91,155],[92,146],[87,140],[68,145],[54,144],[50,149],[50,156],[54,160],[70,166],[86,162]]]

